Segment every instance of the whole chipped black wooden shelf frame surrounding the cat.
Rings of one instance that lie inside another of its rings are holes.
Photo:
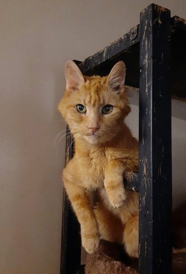
[[[139,172],[124,174],[125,188],[139,191],[139,274],[172,269],[171,94],[186,97],[185,47],[186,21],[150,4],[129,33],[84,62],[75,61],[85,75],[104,76],[123,60],[126,85],[139,87]],[[66,147],[71,142],[68,134]],[[66,162],[72,155],[73,145]],[[80,228],[65,192],[62,211],[61,274],[82,273]]]

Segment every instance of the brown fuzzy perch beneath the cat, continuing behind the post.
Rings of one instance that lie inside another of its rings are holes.
[[[117,243],[100,241],[94,254],[87,254],[85,274],[137,274],[138,262],[131,260]],[[186,274],[186,249],[174,250],[173,274]]]

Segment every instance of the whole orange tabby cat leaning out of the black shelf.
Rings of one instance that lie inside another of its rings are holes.
[[[59,110],[75,139],[75,154],[62,179],[81,226],[82,245],[93,253],[101,236],[138,257],[138,194],[123,183],[124,171],[138,166],[138,143],[124,124],[130,111],[124,62],[107,77],[86,77],[67,61],[65,77]]]

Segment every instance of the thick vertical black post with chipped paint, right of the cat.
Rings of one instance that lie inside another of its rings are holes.
[[[140,13],[139,274],[171,274],[170,10]]]

